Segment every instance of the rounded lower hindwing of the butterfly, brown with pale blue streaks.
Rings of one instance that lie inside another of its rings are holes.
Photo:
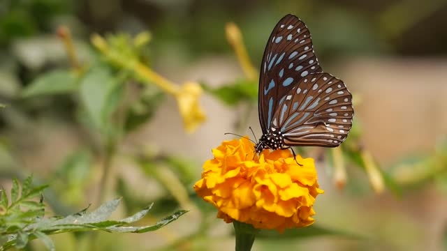
[[[346,139],[353,114],[352,95],[342,80],[312,73],[280,100],[272,126],[288,146],[335,147]]]

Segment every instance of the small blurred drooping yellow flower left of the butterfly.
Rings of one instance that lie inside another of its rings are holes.
[[[186,132],[195,131],[205,121],[205,113],[198,102],[201,94],[202,88],[196,82],[186,82],[175,94]]]

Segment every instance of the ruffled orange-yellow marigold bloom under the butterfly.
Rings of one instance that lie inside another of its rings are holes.
[[[219,210],[218,218],[279,232],[314,223],[312,206],[323,190],[312,158],[297,155],[301,167],[289,150],[258,156],[246,138],[223,142],[212,153],[194,190]]]

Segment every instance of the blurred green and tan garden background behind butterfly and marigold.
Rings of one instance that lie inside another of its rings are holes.
[[[254,250],[447,250],[445,0],[0,0],[0,185],[34,173],[50,184],[47,215],[115,197],[123,215],[154,201],[149,222],[190,210],[149,234],[100,234],[103,250],[233,249],[232,226],[192,189],[211,149],[233,138],[224,132],[261,135],[258,79],[226,25],[239,26],[257,70],[287,13],[355,100],[340,151],[298,149],[318,160],[316,225],[361,238],[265,238]],[[206,120],[142,69],[201,86],[192,96]],[[86,235],[52,238],[84,250]]]

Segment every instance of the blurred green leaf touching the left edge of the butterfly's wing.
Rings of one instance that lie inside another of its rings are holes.
[[[256,102],[258,100],[258,84],[247,79],[237,80],[215,89],[207,84],[201,85],[205,91],[229,106],[238,105],[242,101]]]

